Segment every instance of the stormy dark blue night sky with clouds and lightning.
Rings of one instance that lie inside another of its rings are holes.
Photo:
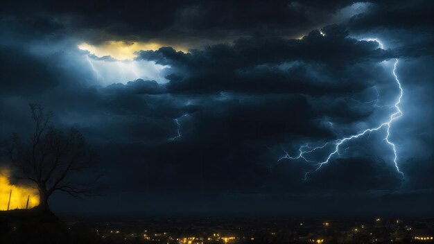
[[[56,193],[58,212],[433,216],[433,13],[2,1],[0,137],[40,103],[98,151],[102,195]]]

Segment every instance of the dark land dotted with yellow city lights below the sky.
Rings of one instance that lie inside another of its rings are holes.
[[[433,218],[103,218],[0,212],[0,243],[434,243]]]

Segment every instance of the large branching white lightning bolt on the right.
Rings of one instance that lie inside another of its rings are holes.
[[[381,49],[383,49],[383,44],[381,44],[381,42],[379,42],[379,40],[376,39],[371,39],[372,41],[376,41],[379,43],[379,46],[381,46]],[[401,170],[399,169],[398,166],[398,156],[397,156],[397,150],[396,150],[396,146],[394,145],[394,143],[392,141],[390,141],[390,127],[392,126],[393,121],[395,121],[396,119],[398,119],[399,117],[402,116],[402,111],[399,108],[399,104],[401,103],[401,98],[403,96],[403,89],[401,87],[401,82],[399,81],[399,78],[397,76],[397,64],[398,64],[398,59],[395,58],[395,62],[394,62],[394,66],[393,66],[393,76],[394,76],[394,80],[397,82],[397,85],[399,87],[399,96],[397,98],[397,101],[395,101],[394,103],[394,108],[395,108],[395,112],[393,112],[392,114],[390,114],[388,121],[385,121],[383,123],[381,123],[380,125],[378,125],[375,128],[368,128],[366,130],[363,130],[363,132],[360,132],[358,134],[353,134],[349,137],[344,137],[342,139],[337,139],[335,141],[332,142],[327,142],[324,143],[322,146],[317,146],[317,147],[310,147],[308,144],[305,144],[303,146],[300,146],[299,148],[299,154],[295,157],[291,157],[285,150],[284,153],[285,155],[283,157],[280,157],[277,161],[281,161],[283,159],[290,159],[290,160],[294,160],[294,159],[303,159],[305,162],[315,162],[315,170],[314,171],[308,171],[304,174],[304,180],[307,180],[307,176],[309,175],[309,173],[313,173],[318,171],[324,164],[329,163],[330,159],[334,156],[334,155],[341,155],[339,153],[340,150],[340,146],[342,146],[342,144],[344,144],[347,141],[351,141],[353,139],[357,139],[358,137],[363,137],[365,134],[370,134],[371,132],[376,132],[377,130],[381,130],[382,128],[385,128],[386,130],[386,134],[385,134],[385,138],[383,139],[383,141],[386,141],[386,143],[388,143],[388,145],[391,146],[392,150],[393,150],[393,162],[394,162],[394,166],[397,170],[398,173],[400,173],[403,176],[403,173],[401,172]],[[378,93],[377,93],[378,94]],[[376,99],[378,101],[378,98]],[[329,153],[329,155],[327,156],[327,158],[322,161],[322,162],[316,162],[310,159],[307,159],[306,156],[313,153],[315,150],[320,150],[325,148],[326,146],[328,146],[329,144],[332,144],[334,146],[334,149],[331,151],[331,153]],[[346,152],[347,148],[345,148],[344,153]]]

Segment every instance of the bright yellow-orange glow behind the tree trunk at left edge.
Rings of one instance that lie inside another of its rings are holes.
[[[10,172],[6,169],[0,169],[0,211],[8,209],[9,194],[10,195],[10,206],[11,209],[25,209],[28,198],[28,208],[36,207],[39,202],[39,194],[36,189],[29,186],[17,186],[12,185],[9,182]]]

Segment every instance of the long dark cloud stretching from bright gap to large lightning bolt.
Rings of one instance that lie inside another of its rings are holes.
[[[216,44],[203,51],[191,50],[190,53],[176,52],[166,47],[158,51],[141,51],[139,58],[155,60],[159,64],[180,64],[190,69],[195,67],[198,72],[209,72],[293,60],[342,66],[367,58],[381,60],[388,55],[387,51],[377,49],[376,42],[359,42],[347,38],[348,31],[345,26],[327,26],[323,31],[325,36],[321,35],[319,30],[313,30],[302,40],[280,37],[240,38],[231,45]]]

